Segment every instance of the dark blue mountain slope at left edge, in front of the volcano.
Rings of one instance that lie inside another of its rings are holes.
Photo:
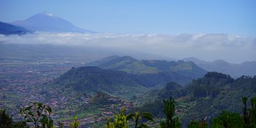
[[[0,22],[0,34],[3,34],[3,35],[13,35],[13,34],[22,35],[22,34],[31,33],[31,32],[33,31],[28,30],[26,28],[14,26],[12,24],[8,24],[5,22]]]

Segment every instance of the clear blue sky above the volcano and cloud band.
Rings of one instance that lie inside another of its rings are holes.
[[[256,1],[0,1],[0,21],[48,11],[104,33],[229,33],[256,37]]]

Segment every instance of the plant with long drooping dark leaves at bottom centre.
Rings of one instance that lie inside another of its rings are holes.
[[[135,128],[137,128],[137,127],[148,127],[147,125],[145,125],[143,123],[138,124],[138,122],[139,122],[139,120],[141,120],[143,118],[146,119],[146,120],[150,120],[150,121],[154,122],[153,117],[154,116],[151,113],[142,113],[140,115],[140,112],[137,111],[135,113],[131,113],[131,114],[127,115],[126,120],[130,120],[130,119],[134,120],[134,122],[135,122],[134,127]]]

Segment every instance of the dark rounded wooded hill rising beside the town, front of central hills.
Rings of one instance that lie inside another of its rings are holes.
[[[126,99],[148,90],[125,72],[99,67],[72,68],[50,85],[75,92],[106,92]]]

